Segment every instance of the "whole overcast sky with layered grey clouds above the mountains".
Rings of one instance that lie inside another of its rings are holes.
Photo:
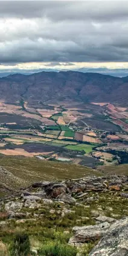
[[[0,70],[128,68],[128,1],[0,1]]]

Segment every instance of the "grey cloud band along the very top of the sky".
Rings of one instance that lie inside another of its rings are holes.
[[[127,1],[1,1],[0,16],[109,21],[127,18],[127,7]]]

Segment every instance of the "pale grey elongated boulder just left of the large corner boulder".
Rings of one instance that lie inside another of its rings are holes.
[[[106,230],[108,230],[109,227],[110,224],[106,222],[94,226],[74,227],[72,230],[75,232],[75,235],[70,238],[69,244],[97,241],[106,234]]]

